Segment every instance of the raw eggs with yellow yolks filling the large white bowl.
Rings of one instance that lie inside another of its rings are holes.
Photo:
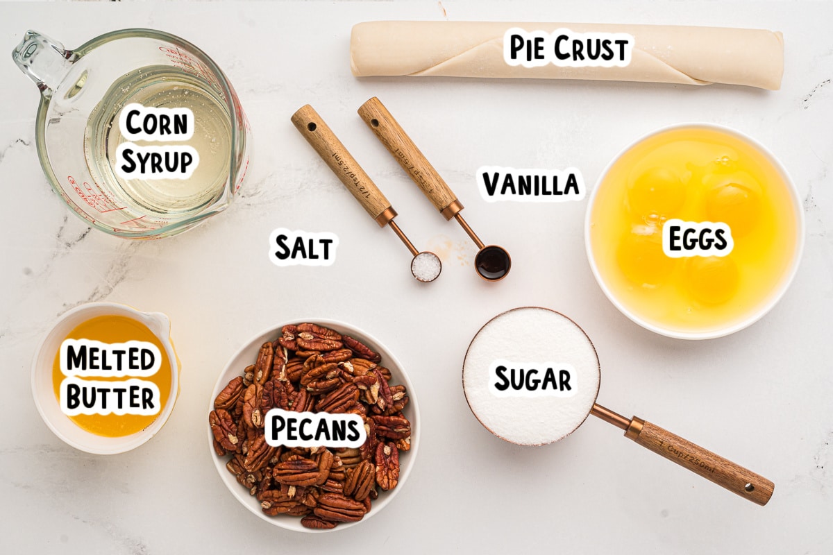
[[[666,330],[703,333],[745,320],[788,279],[794,201],[755,147],[721,131],[651,136],[611,166],[591,211],[591,250],[627,310]],[[721,257],[668,258],[662,225],[722,221],[735,247]]]

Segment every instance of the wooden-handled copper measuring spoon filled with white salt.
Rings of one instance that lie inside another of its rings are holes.
[[[292,114],[292,123],[347,187],[347,191],[356,197],[359,204],[379,224],[379,227],[389,225],[405,243],[413,255],[411,273],[416,280],[424,283],[436,280],[442,271],[440,258],[432,252],[416,250],[413,243],[393,221],[397,216],[397,211],[393,210],[391,203],[382,195],[382,191],[379,191],[376,184],[362,170],[362,166],[359,166],[317,111],[307,104]]]

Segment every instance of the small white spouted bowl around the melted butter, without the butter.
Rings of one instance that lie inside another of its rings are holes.
[[[127,318],[132,318],[147,326],[147,329],[151,330],[165,347],[165,354],[171,364],[171,394],[162,412],[147,428],[135,434],[121,437],[105,437],[92,434],[72,422],[72,419],[62,413],[52,385],[52,364],[55,354],[61,347],[62,340],[77,325],[91,318],[105,315],[127,316]],[[147,442],[165,425],[173,412],[173,405],[176,404],[179,394],[180,364],[177,353],[173,349],[170,334],[171,321],[160,312],[139,312],[126,305],[107,302],[88,303],[67,310],[42,340],[32,362],[32,396],[35,399],[37,412],[41,414],[43,422],[58,438],[87,453],[102,455],[124,453]]]

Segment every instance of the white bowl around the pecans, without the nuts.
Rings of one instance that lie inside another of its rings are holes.
[[[274,341],[278,337],[281,336],[282,332],[281,329],[285,325],[292,325],[292,324],[299,324],[301,322],[312,322],[313,324],[322,325],[324,327],[330,328],[331,330],[336,331],[339,334],[347,334],[353,339],[357,339],[361,341],[363,344],[366,344],[368,347],[376,351],[377,353],[382,355],[382,362],[380,363],[387,369],[391,370],[391,384],[397,385],[402,384],[406,387],[408,397],[410,398],[409,403],[402,410],[402,413],[405,414],[406,418],[411,422],[411,449],[407,452],[400,452],[399,453],[399,482],[397,483],[397,487],[393,488],[390,491],[380,491],[379,498],[373,501],[372,508],[369,513],[367,513],[362,520],[355,522],[355,523],[339,523],[336,528],[329,528],[329,529],[311,529],[305,528],[301,524],[300,517],[292,517],[288,515],[279,514],[275,517],[270,517],[267,514],[263,513],[261,510],[261,504],[257,501],[257,498],[253,495],[250,495],[246,488],[243,488],[242,485],[237,483],[237,479],[230,473],[226,468],[226,463],[229,461],[229,456],[218,457],[217,453],[214,452],[214,435],[212,434],[211,428],[208,426],[208,413],[214,410],[214,399],[217,398],[217,395],[220,394],[222,389],[224,389],[228,382],[231,381],[235,376],[240,376],[243,374],[243,369],[245,369],[249,364],[254,364],[255,360],[257,359],[257,352],[260,349],[261,345],[266,343],[267,341]],[[408,376],[405,370],[402,368],[402,364],[397,360],[393,354],[387,350],[385,345],[383,345],[378,339],[372,337],[372,335],[365,333],[362,330],[359,330],[352,325],[344,324],[343,322],[339,322],[336,320],[322,320],[321,318],[312,318],[307,320],[292,320],[289,322],[283,322],[282,324],[275,325],[274,327],[263,331],[261,334],[257,334],[257,337],[253,338],[247,344],[243,345],[240,350],[237,351],[232,359],[229,360],[228,364],[226,364],[226,368],[222,370],[220,376],[217,378],[217,384],[214,385],[214,389],[212,391],[211,399],[208,399],[208,412],[206,413],[206,429],[207,429],[207,437],[208,437],[208,449],[211,453],[212,460],[214,461],[214,466],[217,468],[217,473],[220,474],[220,479],[222,483],[226,484],[226,487],[237,501],[242,503],[242,505],[247,508],[252,513],[256,514],[259,518],[267,521],[267,523],[272,523],[275,526],[279,526],[281,528],[286,528],[287,530],[294,530],[296,532],[310,532],[310,533],[322,533],[322,532],[332,532],[334,530],[342,530],[345,528],[350,528],[356,524],[363,523],[367,521],[368,518],[371,518],[373,515],[379,513],[383,508],[387,507],[388,503],[391,503],[391,500],[399,493],[402,487],[405,485],[405,482],[408,478],[408,475],[411,473],[411,469],[413,468],[414,461],[416,460],[416,451],[419,449],[419,436],[420,436],[420,419],[419,419],[419,405],[416,404],[416,394],[414,392],[413,384],[411,380],[408,379]]]

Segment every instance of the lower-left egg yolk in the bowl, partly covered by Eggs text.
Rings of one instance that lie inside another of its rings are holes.
[[[662,230],[656,225],[634,225],[616,251],[619,267],[634,285],[659,285],[671,274],[675,259],[662,251]]]

